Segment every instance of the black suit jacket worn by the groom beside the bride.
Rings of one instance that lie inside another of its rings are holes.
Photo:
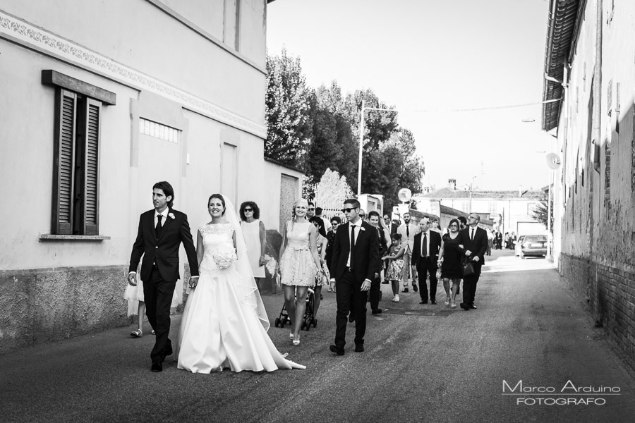
[[[174,216],[174,219],[170,216]],[[155,210],[148,210],[139,217],[137,239],[130,256],[129,271],[137,271],[141,262],[141,280],[149,281],[152,264],[157,264],[161,278],[166,282],[176,282],[179,275],[179,246],[183,243],[190,264],[190,274],[198,276],[196,249],[188,224],[188,216],[178,210],[169,209],[159,237],[155,235]]]

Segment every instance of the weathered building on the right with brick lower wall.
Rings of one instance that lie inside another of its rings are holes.
[[[550,5],[543,130],[553,131],[554,258],[635,367],[635,2]]]

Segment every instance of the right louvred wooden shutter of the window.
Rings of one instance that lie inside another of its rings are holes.
[[[80,135],[83,135],[82,157],[83,175],[79,183],[81,184],[82,195],[80,196],[80,226],[82,235],[99,234],[99,123],[101,118],[102,104],[97,100],[85,99],[85,107],[82,108],[84,114]]]

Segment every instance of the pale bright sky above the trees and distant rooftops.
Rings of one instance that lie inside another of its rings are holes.
[[[310,87],[370,88],[397,109],[423,159],[424,187],[454,178],[459,189],[540,189],[555,145],[540,130],[548,5],[275,0],[267,51],[298,56]],[[520,104],[533,105],[507,107]]]

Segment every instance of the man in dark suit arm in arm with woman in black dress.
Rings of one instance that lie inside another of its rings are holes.
[[[480,216],[470,213],[468,226],[459,232],[459,244],[465,250],[466,262],[470,261],[474,267],[474,273],[463,278],[463,302],[459,305],[462,309],[476,309],[474,295],[476,295],[476,283],[480,277],[480,268],[485,263],[483,258],[488,250],[488,233],[478,227]]]

